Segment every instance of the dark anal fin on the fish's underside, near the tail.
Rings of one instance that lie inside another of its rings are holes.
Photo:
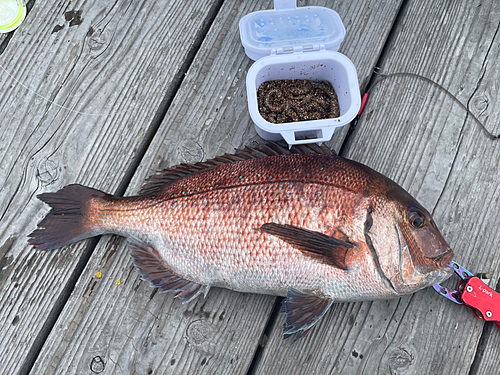
[[[132,260],[141,278],[148,281],[152,287],[160,288],[162,292],[175,293],[182,303],[196,298],[200,293],[207,295],[210,286],[185,280],[169,270],[155,255],[158,252],[150,246],[142,246],[129,242],[132,249]]]

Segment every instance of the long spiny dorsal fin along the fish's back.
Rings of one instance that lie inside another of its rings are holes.
[[[277,143],[260,144],[255,147],[245,147],[243,150],[237,150],[234,154],[224,154],[214,159],[196,164],[180,164],[172,168],[164,169],[150,176],[144,186],[139,191],[139,195],[152,195],[161,193],[166,186],[172,182],[181,180],[185,177],[204,172],[214,167],[236,163],[250,159],[262,159],[274,155],[290,154],[322,154],[335,155],[335,152],[326,146],[317,144],[307,144],[293,146],[290,150]]]

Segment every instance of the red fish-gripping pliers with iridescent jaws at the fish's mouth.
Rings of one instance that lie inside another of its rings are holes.
[[[439,284],[433,285],[434,290],[450,301],[467,306],[479,320],[494,322],[500,330],[500,293],[460,264],[452,261],[447,266],[452,267],[462,279],[457,290],[450,290]]]

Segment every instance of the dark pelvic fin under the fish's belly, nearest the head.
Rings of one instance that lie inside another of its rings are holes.
[[[281,306],[281,312],[286,313],[283,325],[284,338],[297,332],[300,332],[297,339],[302,337],[325,315],[332,303],[331,299],[323,296],[301,292],[294,288],[288,289],[286,299]]]

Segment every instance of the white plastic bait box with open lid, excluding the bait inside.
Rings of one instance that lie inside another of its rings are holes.
[[[274,10],[247,14],[240,20],[245,53],[255,63],[247,74],[250,116],[257,133],[290,146],[329,141],[335,130],[351,122],[361,106],[354,64],[337,52],[345,36],[340,16],[324,7],[297,8],[296,0],[275,0]],[[330,82],[340,117],[273,124],[259,113],[257,89],[266,81],[308,79]]]

